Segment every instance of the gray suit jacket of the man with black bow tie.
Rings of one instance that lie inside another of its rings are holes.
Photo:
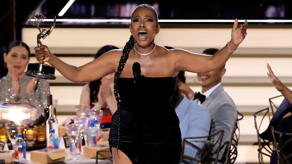
[[[198,99],[194,100],[196,104],[198,101]],[[222,144],[229,141],[234,121],[237,118],[237,109],[231,97],[224,91],[223,86],[219,85],[201,105],[206,107],[211,115],[210,134],[224,130]],[[217,141],[218,138],[219,135],[211,139]],[[220,151],[218,159],[221,158],[223,152],[224,149]]]

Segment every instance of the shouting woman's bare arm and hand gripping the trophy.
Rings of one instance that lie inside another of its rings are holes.
[[[104,53],[102,56],[86,63],[80,67],[73,66],[60,60],[52,53],[47,46],[42,45],[35,47],[35,56],[37,61],[43,60],[55,67],[64,77],[73,82],[89,82],[100,79],[109,73],[116,71],[121,50],[111,50]]]

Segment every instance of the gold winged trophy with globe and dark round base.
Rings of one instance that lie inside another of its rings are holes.
[[[45,39],[47,36],[50,35],[52,30],[54,29],[55,24],[56,24],[56,16],[55,16],[52,26],[48,30],[46,29],[40,30],[40,24],[43,23],[43,14],[40,13],[40,11],[33,11],[32,13],[30,13],[29,21],[31,24],[33,24],[33,26],[36,26],[40,32],[39,34],[37,34],[37,37],[36,37],[37,46],[40,47],[42,45],[42,42],[40,41],[40,39],[42,38]],[[48,64],[43,63],[43,60],[40,61],[40,63],[28,63],[27,71],[24,74],[27,76],[37,77],[41,79],[49,79],[49,80],[56,79],[55,68]]]

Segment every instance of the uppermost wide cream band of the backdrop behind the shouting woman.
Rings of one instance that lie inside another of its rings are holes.
[[[277,49],[278,53],[290,53],[292,29],[248,29],[248,36],[238,48],[237,53],[248,53],[252,49]],[[36,45],[36,28],[23,28],[23,41],[30,47]],[[107,44],[122,48],[128,41],[127,28],[54,28],[50,36],[42,40],[49,47],[96,48]],[[231,39],[231,28],[183,28],[161,29],[155,42],[162,46],[176,48],[221,48]],[[289,49],[289,52],[283,50]],[[244,50],[244,51],[242,51]],[[266,51],[266,53],[269,53]],[[72,52],[74,53],[74,52]],[[198,52],[200,53],[200,52]],[[263,52],[257,52],[263,53]]]

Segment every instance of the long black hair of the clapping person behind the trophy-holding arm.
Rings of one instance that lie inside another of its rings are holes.
[[[97,59],[102,54],[108,52],[109,50],[114,50],[114,49],[118,49],[118,47],[112,46],[112,45],[103,46],[97,51],[96,55],[94,56],[94,59]],[[100,80],[101,79],[94,80],[89,83],[90,103],[98,101],[97,94],[99,91],[99,85],[101,84]]]

